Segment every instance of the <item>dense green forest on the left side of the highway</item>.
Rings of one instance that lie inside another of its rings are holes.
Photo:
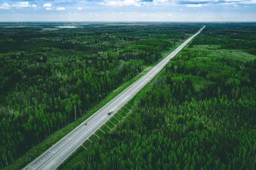
[[[0,23],[0,167],[76,121],[199,23]],[[21,168],[21,167],[20,167]]]

